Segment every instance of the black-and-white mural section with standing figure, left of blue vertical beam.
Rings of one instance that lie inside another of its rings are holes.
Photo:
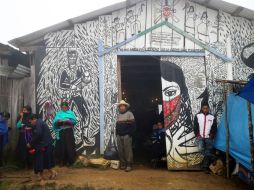
[[[92,35],[96,34],[96,26],[90,22],[47,35],[46,56],[40,64],[37,84],[39,112],[44,113],[49,126],[60,102],[69,102],[78,117],[75,140],[82,154],[95,153],[99,140],[97,40]],[[45,115],[48,109],[50,117]]]

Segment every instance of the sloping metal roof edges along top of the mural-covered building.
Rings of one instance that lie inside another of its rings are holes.
[[[25,47],[43,45],[43,38],[47,33],[73,28],[74,24],[83,23],[88,20],[96,19],[98,16],[110,14],[113,11],[125,8],[126,6],[127,7],[131,6],[139,1],[142,0],[126,0],[124,2],[116,3],[114,5],[78,17],[68,19],[56,25],[44,28],[42,30],[38,30],[25,36],[12,39],[9,41],[9,43],[20,49],[23,48],[23,50],[25,51],[26,50]],[[222,0],[192,0],[192,1],[199,3],[201,5],[205,5],[212,9],[225,11],[234,16],[240,16],[250,20],[254,20],[254,10],[234,5],[232,3],[228,3]]]

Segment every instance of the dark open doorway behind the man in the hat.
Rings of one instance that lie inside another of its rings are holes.
[[[119,56],[121,98],[131,105],[136,120],[133,137],[134,160],[148,163],[146,142],[152,135],[153,125],[161,119],[162,87],[160,57]]]

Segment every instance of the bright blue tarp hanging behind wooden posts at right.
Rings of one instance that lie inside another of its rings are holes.
[[[229,153],[248,170],[252,170],[250,140],[248,129],[247,101],[232,93],[228,97],[228,126],[229,126]],[[254,123],[254,105],[252,108],[252,122]],[[254,135],[253,135],[254,136]],[[214,147],[226,151],[225,114],[222,116],[215,137]]]

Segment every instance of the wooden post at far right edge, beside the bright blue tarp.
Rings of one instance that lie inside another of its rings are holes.
[[[250,137],[250,156],[251,156],[251,166],[252,173],[254,172],[254,142],[253,142],[253,123],[252,123],[252,111],[251,103],[248,101],[248,127],[249,127],[249,137]]]

